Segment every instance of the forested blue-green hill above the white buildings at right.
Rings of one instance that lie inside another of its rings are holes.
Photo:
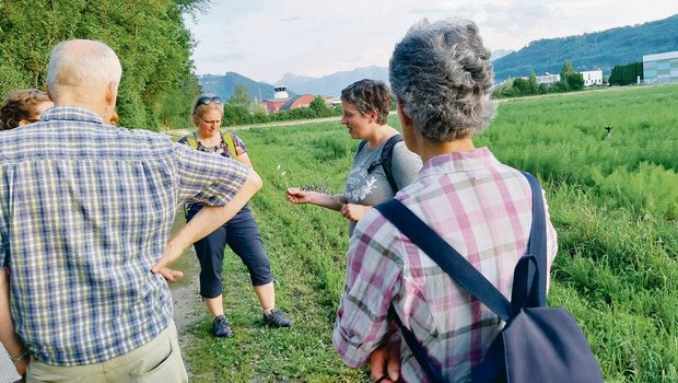
[[[671,50],[678,50],[678,14],[633,26],[529,43],[494,61],[494,79],[527,77],[533,70],[537,74],[558,73],[565,60],[572,61],[577,71],[603,69],[608,76],[616,65]]]

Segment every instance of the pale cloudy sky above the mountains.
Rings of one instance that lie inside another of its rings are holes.
[[[319,78],[386,67],[394,45],[423,18],[474,20],[488,48],[517,50],[676,13],[677,0],[211,0],[186,26],[197,43],[197,73],[273,83],[287,72]]]

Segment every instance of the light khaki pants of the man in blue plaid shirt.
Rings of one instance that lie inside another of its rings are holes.
[[[171,322],[155,339],[102,363],[61,367],[32,359],[27,382],[188,382],[176,334]]]

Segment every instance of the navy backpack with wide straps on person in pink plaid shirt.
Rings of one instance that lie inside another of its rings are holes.
[[[506,325],[490,346],[472,382],[604,382],[584,334],[562,307],[546,306],[546,214],[537,179],[524,172],[533,192],[533,224],[525,255],[515,267],[511,302],[482,274],[397,199],[376,206],[402,234]],[[391,310],[391,313],[395,313]],[[445,382],[414,335],[402,337],[432,382]]]

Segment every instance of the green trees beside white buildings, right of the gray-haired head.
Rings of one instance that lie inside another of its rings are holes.
[[[584,89],[584,77],[574,70],[572,61],[568,60],[560,70],[560,81],[551,84],[537,82],[537,73],[533,70],[528,79],[510,79],[505,84],[494,90],[494,97],[516,97],[534,94],[563,93]]]

